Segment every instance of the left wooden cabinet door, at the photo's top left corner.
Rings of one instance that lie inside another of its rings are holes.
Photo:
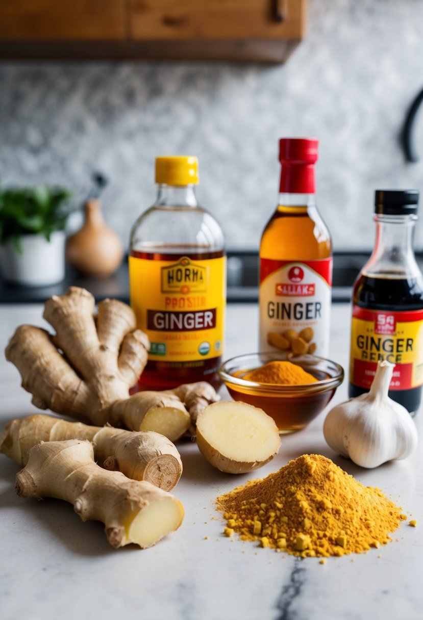
[[[126,25],[126,0],[0,0],[2,40],[117,40]]]

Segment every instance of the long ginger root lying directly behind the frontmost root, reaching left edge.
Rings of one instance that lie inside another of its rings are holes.
[[[105,469],[121,471],[133,480],[146,480],[165,491],[172,490],[182,474],[176,446],[159,433],[92,427],[43,414],[7,423],[0,435],[0,452],[24,466],[30,449],[40,441],[68,439],[92,441],[94,456]]]

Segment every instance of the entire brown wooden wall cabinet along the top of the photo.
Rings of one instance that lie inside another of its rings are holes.
[[[282,62],[306,0],[0,0],[1,58]]]

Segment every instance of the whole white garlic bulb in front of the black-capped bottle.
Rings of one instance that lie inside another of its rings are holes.
[[[361,467],[404,459],[417,446],[411,415],[388,396],[393,368],[379,361],[370,392],[336,405],[324,420],[329,446]]]

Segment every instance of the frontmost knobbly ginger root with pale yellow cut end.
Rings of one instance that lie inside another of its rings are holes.
[[[184,518],[184,507],[173,495],[101,469],[86,440],[33,446],[27,465],[16,476],[16,492],[20,497],[56,497],[72,503],[82,521],[104,523],[113,547],[131,542],[151,547],[179,528]]]

